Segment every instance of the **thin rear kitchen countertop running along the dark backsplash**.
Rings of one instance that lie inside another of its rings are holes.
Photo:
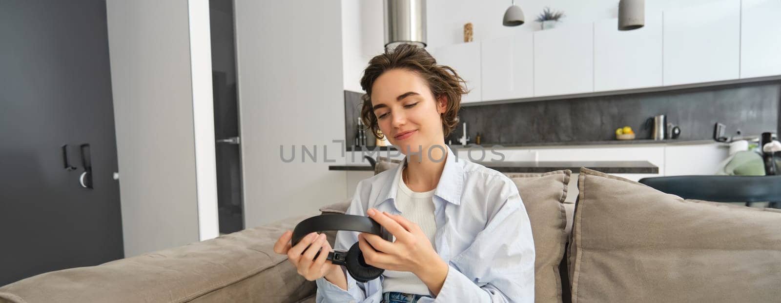
[[[496,143],[483,143],[480,144],[483,148],[490,148],[494,145],[501,145],[502,148],[534,148],[534,147],[546,147],[546,146],[583,146],[583,145],[631,145],[631,144],[709,144],[709,143],[716,143],[716,141],[713,141],[711,139],[704,139],[704,140],[677,140],[677,139],[665,139],[665,140],[652,140],[652,139],[635,139],[635,140],[606,140],[606,141],[557,141],[557,142],[529,142],[529,143],[505,143],[505,144],[496,144]],[[465,147],[461,144],[451,144],[448,145],[452,149],[458,149],[458,148],[470,148],[473,146],[477,146],[476,144],[467,144]],[[358,146],[348,146],[347,152],[359,152],[362,150],[373,150],[375,148],[374,146],[369,146],[369,148],[366,147],[358,147]],[[394,146],[380,146],[378,147],[380,151],[395,151],[397,150]]]

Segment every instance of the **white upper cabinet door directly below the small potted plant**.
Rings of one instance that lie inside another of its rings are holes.
[[[534,32],[534,95],[594,91],[594,24]]]

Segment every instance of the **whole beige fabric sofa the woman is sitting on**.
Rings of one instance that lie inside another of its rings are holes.
[[[687,201],[581,169],[508,174],[529,212],[535,301],[776,301],[781,212]],[[344,212],[348,202],[323,213]],[[0,287],[0,302],[310,302],[316,286],[273,244],[320,212],[100,266],[43,273]],[[333,233],[329,240],[333,244]],[[569,245],[567,244],[569,243]],[[566,252],[566,254],[565,254]]]

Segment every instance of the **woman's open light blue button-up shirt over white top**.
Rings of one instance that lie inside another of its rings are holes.
[[[448,263],[448,276],[436,298],[419,302],[533,302],[534,244],[517,187],[504,174],[458,159],[446,149],[433,197],[437,223],[433,244]],[[366,216],[366,210],[375,208],[400,214],[395,198],[402,167],[361,180],[347,213]],[[334,248],[347,250],[355,242],[358,232],[341,230]],[[380,303],[383,279],[362,283],[347,274],[345,291],[319,278],[316,302]]]

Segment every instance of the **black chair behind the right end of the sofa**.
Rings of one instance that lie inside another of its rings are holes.
[[[716,202],[769,201],[769,208],[781,203],[781,175],[776,176],[655,176],[640,183],[684,199]]]

